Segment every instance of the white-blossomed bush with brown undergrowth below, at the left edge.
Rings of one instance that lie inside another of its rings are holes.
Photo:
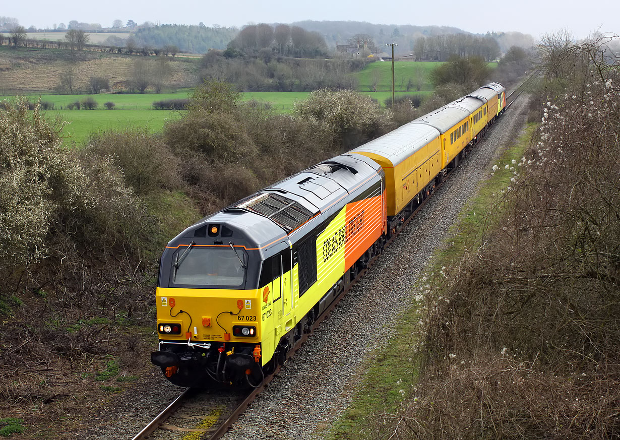
[[[59,371],[115,350],[117,314],[148,314],[159,231],[112,156],[66,149],[60,125],[27,108],[0,108],[0,306],[15,304],[1,310],[5,402],[54,395]]]

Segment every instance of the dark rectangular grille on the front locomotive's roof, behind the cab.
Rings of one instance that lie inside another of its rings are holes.
[[[298,202],[276,193],[261,193],[239,201],[230,208],[244,208],[272,219],[287,232],[297,229],[309,219],[312,213]]]

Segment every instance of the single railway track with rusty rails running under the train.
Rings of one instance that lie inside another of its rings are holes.
[[[538,72],[532,73],[528,78],[521,82],[515,89],[511,90],[507,95],[507,103],[505,111],[507,111],[513,102],[526,90],[526,86]],[[415,214],[427,204],[432,196],[439,188],[443,186],[447,177],[452,174],[454,169],[448,171],[446,178],[442,180],[438,185],[433,188],[420,205],[415,208],[409,216],[404,219],[399,226],[398,231],[401,231],[409,221],[414,218]],[[392,237],[386,242],[386,247],[389,246],[398,234],[392,235]],[[368,266],[361,270],[352,283],[344,289],[334,302],[325,310],[324,314],[317,318],[316,322],[312,325],[310,333],[305,333],[303,337],[291,348],[288,352],[287,359],[293,356],[298,348],[308,340],[314,330],[321,324],[321,322],[330,314],[335,306],[340,302],[340,299],[347,293],[347,291],[355,285],[355,283],[370,270],[373,263],[379,257],[373,257]],[[273,374],[266,375],[263,384],[260,387],[252,389],[251,392],[246,394],[240,394],[230,389],[222,389],[219,392],[203,392],[195,389],[185,389],[177,398],[174,399],[159,415],[157,415],[151,422],[148,423],[136,436],[131,440],[159,440],[159,439],[201,439],[201,440],[217,440],[223,436],[230,428],[237,418],[246,410],[246,408],[252,403],[255,398],[262,392],[269,382],[272,381],[275,374],[280,371],[278,366]]]

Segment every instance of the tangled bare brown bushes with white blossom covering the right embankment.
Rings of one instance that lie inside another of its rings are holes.
[[[500,177],[502,188],[467,208],[448,242],[456,252],[423,272],[415,354],[401,351],[414,376],[398,379],[398,405],[362,408],[371,410],[356,426],[369,438],[620,433],[620,88],[617,68],[587,67],[564,89],[542,83],[523,155],[495,163],[490,182]]]

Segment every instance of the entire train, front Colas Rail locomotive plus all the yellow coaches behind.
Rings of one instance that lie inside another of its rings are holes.
[[[503,113],[494,82],[201,219],[167,244],[151,362],[262,384]]]

